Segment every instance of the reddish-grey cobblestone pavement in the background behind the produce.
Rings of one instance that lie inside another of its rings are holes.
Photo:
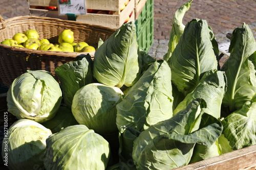
[[[161,59],[167,52],[172,18],[186,0],[154,0],[154,43],[148,52]],[[27,0],[1,0],[0,14],[5,18],[29,15]],[[226,34],[247,23],[256,37],[256,0],[194,0],[185,13],[183,24],[194,18],[205,19],[214,31],[217,42],[226,42]]]

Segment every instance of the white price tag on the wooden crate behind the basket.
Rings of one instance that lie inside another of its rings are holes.
[[[87,13],[86,0],[57,0],[59,15]]]

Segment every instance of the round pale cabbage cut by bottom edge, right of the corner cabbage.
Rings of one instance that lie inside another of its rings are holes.
[[[109,142],[84,125],[69,126],[48,137],[46,143],[48,170],[103,170],[109,162]]]

